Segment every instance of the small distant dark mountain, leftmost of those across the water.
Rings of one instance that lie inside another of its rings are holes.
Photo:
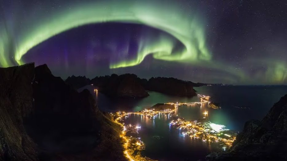
[[[90,79],[86,78],[85,76],[74,76],[72,75],[71,77],[68,77],[65,80],[65,83],[70,85],[71,87],[75,88],[75,89],[79,89],[83,86],[86,86],[88,84],[90,84]]]

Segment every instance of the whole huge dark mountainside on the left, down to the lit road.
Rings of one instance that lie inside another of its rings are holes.
[[[125,160],[120,126],[44,64],[0,68],[0,160]]]

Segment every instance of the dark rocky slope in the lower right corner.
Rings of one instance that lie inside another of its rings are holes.
[[[245,123],[228,152],[211,153],[207,160],[287,160],[287,95],[262,121]]]

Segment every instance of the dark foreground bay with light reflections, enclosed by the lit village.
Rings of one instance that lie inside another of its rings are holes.
[[[174,115],[176,116],[176,113]],[[210,151],[222,151],[216,143],[202,142],[200,139],[182,135],[181,130],[171,127],[169,124],[172,117],[168,117],[167,114],[163,113],[151,118],[130,114],[129,117],[124,119],[124,123],[125,125],[136,124],[141,126],[138,135],[146,145],[146,149],[142,151],[142,154],[152,159],[168,161],[197,160],[204,159]]]

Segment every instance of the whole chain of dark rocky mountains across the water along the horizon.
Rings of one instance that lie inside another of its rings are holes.
[[[110,97],[120,98],[143,98],[149,96],[147,91],[155,91],[163,94],[193,97],[197,94],[193,87],[203,86],[203,83],[193,83],[175,78],[156,77],[140,79],[135,74],[123,74],[111,76],[100,76],[88,79],[85,76],[71,76],[65,82],[78,89],[88,84],[92,84],[99,92]]]

